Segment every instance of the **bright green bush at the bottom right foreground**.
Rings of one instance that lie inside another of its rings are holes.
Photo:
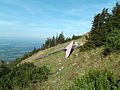
[[[118,90],[120,82],[117,82],[112,71],[92,70],[88,74],[75,80],[67,90]]]

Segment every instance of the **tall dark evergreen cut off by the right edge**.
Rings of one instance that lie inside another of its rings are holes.
[[[112,17],[109,21],[109,34],[103,54],[106,56],[111,52],[120,53],[120,5],[117,3],[113,8]]]

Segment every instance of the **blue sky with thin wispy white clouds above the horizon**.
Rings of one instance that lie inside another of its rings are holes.
[[[103,8],[116,0],[0,0],[0,38],[66,37],[90,31]]]

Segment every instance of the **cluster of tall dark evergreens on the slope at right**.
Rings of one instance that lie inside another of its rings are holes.
[[[92,29],[82,50],[104,46],[103,55],[120,52],[120,3],[116,3],[112,13],[103,9],[93,20]]]

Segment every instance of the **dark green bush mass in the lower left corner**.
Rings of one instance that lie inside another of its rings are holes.
[[[37,67],[33,63],[20,64],[2,75],[0,78],[0,87],[3,90],[11,90],[15,86],[25,88],[30,84],[46,81],[49,75],[50,70],[45,66]]]

